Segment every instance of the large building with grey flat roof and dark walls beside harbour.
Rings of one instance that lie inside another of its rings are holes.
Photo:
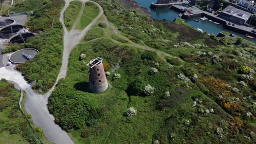
[[[223,9],[218,16],[226,21],[230,21],[238,25],[243,25],[248,21],[251,15],[251,13],[229,5],[228,7]]]

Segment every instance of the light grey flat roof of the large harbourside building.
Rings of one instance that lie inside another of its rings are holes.
[[[243,11],[241,9],[237,9],[235,7],[232,7],[231,5],[229,5],[225,9],[223,9],[222,13],[232,15],[232,16],[238,17],[238,18],[243,19],[243,20],[248,20],[249,17],[252,15],[251,13],[248,13],[248,12]]]

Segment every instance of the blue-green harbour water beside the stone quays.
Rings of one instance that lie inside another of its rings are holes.
[[[173,9],[150,9],[150,4],[156,3],[157,0],[135,0],[138,4],[140,4],[142,7],[147,8],[150,13],[152,14],[152,17],[157,20],[166,19],[167,21],[173,21],[176,17],[179,17],[179,12]],[[229,33],[233,33],[235,35],[239,35],[240,37],[243,37],[249,41],[252,41],[253,43],[256,43],[256,39],[250,39],[245,37],[245,35],[236,33],[234,31],[229,31],[228,29],[225,29],[222,25],[216,25],[214,22],[210,21],[202,21],[200,20],[200,17],[196,18],[199,20],[199,22],[195,22],[194,19],[186,19],[185,22],[188,23],[190,26],[193,26],[195,28],[202,29],[203,32],[207,32],[209,34],[215,34],[218,35],[219,32],[225,31]]]

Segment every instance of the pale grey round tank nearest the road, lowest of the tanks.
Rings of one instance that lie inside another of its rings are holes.
[[[32,48],[18,50],[11,54],[11,56],[9,57],[9,61],[11,63],[25,63],[30,59],[34,58],[37,53],[38,50]]]

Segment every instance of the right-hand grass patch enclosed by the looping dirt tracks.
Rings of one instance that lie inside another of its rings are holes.
[[[78,23],[79,29],[86,28],[100,13],[100,9],[95,3],[86,2],[83,15],[80,17],[80,21]]]

